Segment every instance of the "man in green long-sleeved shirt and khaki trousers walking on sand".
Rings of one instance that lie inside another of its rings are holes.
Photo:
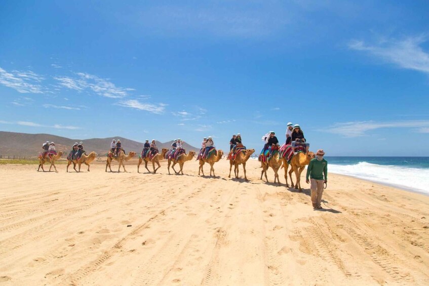
[[[323,194],[323,184],[328,182],[328,161],[323,158],[323,149],[317,150],[316,158],[310,160],[305,182],[310,183],[311,202],[315,210],[323,209],[320,205]],[[310,179],[308,179],[308,177]],[[325,177],[325,179],[323,179]]]

